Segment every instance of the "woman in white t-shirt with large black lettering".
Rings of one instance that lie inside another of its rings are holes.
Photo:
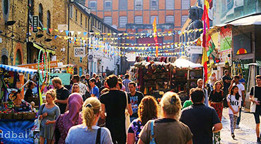
[[[227,96],[227,105],[229,106],[231,136],[233,139],[235,138],[234,130],[236,128],[236,121],[239,116],[241,101],[242,101],[242,96],[240,96],[238,93],[238,86],[234,85],[231,88],[230,94]]]

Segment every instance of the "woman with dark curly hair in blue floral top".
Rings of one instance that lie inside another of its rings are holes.
[[[127,143],[134,144],[139,140],[139,132],[150,119],[157,119],[158,104],[152,96],[146,96],[141,100],[138,109],[138,118],[134,119],[128,128]]]

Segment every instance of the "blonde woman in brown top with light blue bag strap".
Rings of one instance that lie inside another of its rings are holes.
[[[179,121],[182,106],[177,93],[165,93],[160,104],[163,118],[148,121],[138,143],[192,143],[190,128]]]

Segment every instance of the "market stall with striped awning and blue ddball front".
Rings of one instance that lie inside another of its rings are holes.
[[[36,109],[34,104],[23,100],[24,87],[30,82],[24,83],[25,75],[33,74],[38,75],[38,70],[0,64],[0,140],[3,143],[34,143],[29,133],[34,126]],[[39,90],[34,96],[40,104]]]

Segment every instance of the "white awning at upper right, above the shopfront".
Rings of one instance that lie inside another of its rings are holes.
[[[239,18],[238,20],[234,20],[230,23],[216,25],[218,27],[224,27],[225,25],[261,25],[261,14],[260,15],[254,15],[254,16],[246,16],[244,18]]]

